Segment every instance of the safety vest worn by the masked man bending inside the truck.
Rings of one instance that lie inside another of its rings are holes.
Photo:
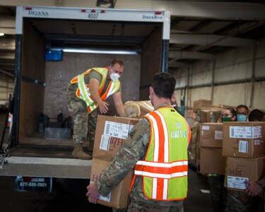
[[[120,87],[120,82],[119,80],[113,82],[110,81],[110,85],[107,87],[107,90],[105,93],[102,93],[102,90],[105,86],[105,82],[107,79],[107,68],[93,68],[93,69],[88,69],[88,71],[81,73],[80,75],[74,77],[71,80],[71,83],[78,83],[78,88],[76,90],[76,96],[78,98],[81,98],[81,100],[86,102],[86,105],[88,106],[88,113],[92,112],[93,110],[95,110],[98,107],[98,103],[96,103],[93,100],[93,97],[89,91],[89,85],[85,83],[85,76],[90,73],[90,71],[98,71],[98,73],[101,74],[102,76],[102,81],[100,83],[100,90],[99,90],[99,94],[100,94],[100,98],[104,101],[106,100],[110,95],[112,95],[113,93],[116,93],[119,90]]]

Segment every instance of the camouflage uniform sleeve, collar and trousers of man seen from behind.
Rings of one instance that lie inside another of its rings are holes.
[[[168,106],[170,103],[159,105]],[[102,172],[96,182],[102,196],[107,196],[113,187],[134,169],[138,160],[143,160],[149,144],[150,124],[146,118],[134,126],[124,141],[124,146],[117,152],[110,165]],[[180,201],[155,201],[148,199],[143,194],[143,177],[136,176],[134,186],[129,195],[128,211],[183,211],[183,200]]]

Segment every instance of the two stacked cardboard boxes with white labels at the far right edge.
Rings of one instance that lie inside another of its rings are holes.
[[[228,157],[225,185],[244,191],[247,180],[264,174],[265,122],[223,122],[223,155]]]

